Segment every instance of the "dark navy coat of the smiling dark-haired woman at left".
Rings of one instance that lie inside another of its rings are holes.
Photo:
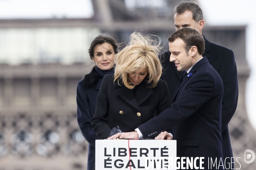
[[[77,83],[76,103],[77,103],[77,121],[81,133],[89,143],[87,170],[92,170],[95,162],[95,140],[99,139],[93,132],[91,119],[94,116],[96,108],[96,98],[102,83],[102,78],[95,70],[95,67],[84,79]]]

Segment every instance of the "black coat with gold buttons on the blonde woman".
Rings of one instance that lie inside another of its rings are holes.
[[[134,94],[132,89],[113,82],[113,75],[106,75],[97,97],[93,130],[100,139],[107,139],[113,127],[125,132],[134,131],[139,125],[159,115],[170,107],[166,82],[160,79],[154,88],[143,80]],[[122,113],[122,114],[121,114]]]

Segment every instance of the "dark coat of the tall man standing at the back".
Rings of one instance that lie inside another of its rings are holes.
[[[222,98],[221,108],[221,131],[222,150],[225,159],[227,157],[233,157],[227,125],[236,111],[238,101],[238,75],[236,69],[236,62],[232,50],[221,45],[209,42],[205,37],[204,41],[205,50],[203,56],[207,57],[209,63],[221,76],[224,86],[224,94]],[[167,82],[169,94],[172,98],[176,86],[184,73],[177,71],[174,62],[170,62],[169,51],[166,51],[161,59],[163,60],[162,79]]]

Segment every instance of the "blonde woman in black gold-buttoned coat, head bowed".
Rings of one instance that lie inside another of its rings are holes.
[[[100,139],[107,139],[117,126],[134,131],[170,107],[167,84],[160,79],[160,43],[152,38],[131,34],[128,45],[115,55],[115,73],[102,80],[91,122]]]

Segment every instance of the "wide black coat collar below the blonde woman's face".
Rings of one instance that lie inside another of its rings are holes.
[[[135,94],[132,89],[128,89],[124,85],[118,85],[117,82],[114,82],[114,85],[116,93],[138,111],[140,111],[140,105],[153,93],[151,89],[146,88],[151,87],[152,83],[147,83],[145,80],[138,85],[139,88]]]

